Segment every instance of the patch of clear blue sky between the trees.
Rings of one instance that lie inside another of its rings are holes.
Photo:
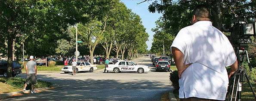
[[[153,35],[154,33],[151,31],[152,28],[156,27],[155,21],[162,16],[162,14],[158,13],[151,13],[148,11],[148,6],[151,4],[152,1],[146,1],[144,3],[140,3],[144,0],[121,0],[128,9],[132,9],[132,12],[136,13],[142,19],[142,24],[146,28],[146,32],[148,33],[149,37],[146,43],[148,45],[148,50],[151,49],[151,43],[153,42]],[[154,0],[153,0],[154,1]],[[137,4],[140,3],[140,4]]]

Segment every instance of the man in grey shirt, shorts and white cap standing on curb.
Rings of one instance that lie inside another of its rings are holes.
[[[23,91],[26,90],[26,87],[31,81],[31,93],[34,94],[36,93],[34,91],[34,85],[37,83],[37,63],[33,61],[34,60],[33,56],[30,56],[29,58],[30,58],[30,61],[27,62],[25,67],[26,73],[27,73],[27,79],[26,79],[26,83],[23,88]]]

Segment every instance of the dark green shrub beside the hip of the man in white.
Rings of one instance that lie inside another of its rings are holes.
[[[170,81],[172,82],[172,86],[174,89],[179,90],[179,76],[178,71],[173,71],[170,73]]]

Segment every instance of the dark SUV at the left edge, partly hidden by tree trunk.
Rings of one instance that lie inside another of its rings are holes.
[[[22,73],[22,67],[18,61],[12,61],[12,76]],[[7,77],[7,61],[0,62],[0,75]]]

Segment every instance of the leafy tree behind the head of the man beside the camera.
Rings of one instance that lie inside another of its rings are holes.
[[[248,13],[250,16],[249,23],[255,22],[255,0],[163,0],[160,2],[155,0],[148,6],[148,10],[153,13],[163,13],[163,17],[159,19],[163,24],[161,27],[161,33],[164,33],[163,36],[169,36],[169,34],[176,36],[180,29],[191,24],[192,10],[199,4],[205,4],[210,7],[213,26],[221,31],[224,31],[222,28],[223,24],[231,26],[230,19],[234,15],[244,15]],[[163,37],[159,35],[159,32],[155,33],[158,33],[158,35],[155,35],[156,38],[154,37],[151,52],[157,50],[157,48],[154,48],[154,45],[157,47],[158,39]],[[168,46],[168,48],[170,47]]]

